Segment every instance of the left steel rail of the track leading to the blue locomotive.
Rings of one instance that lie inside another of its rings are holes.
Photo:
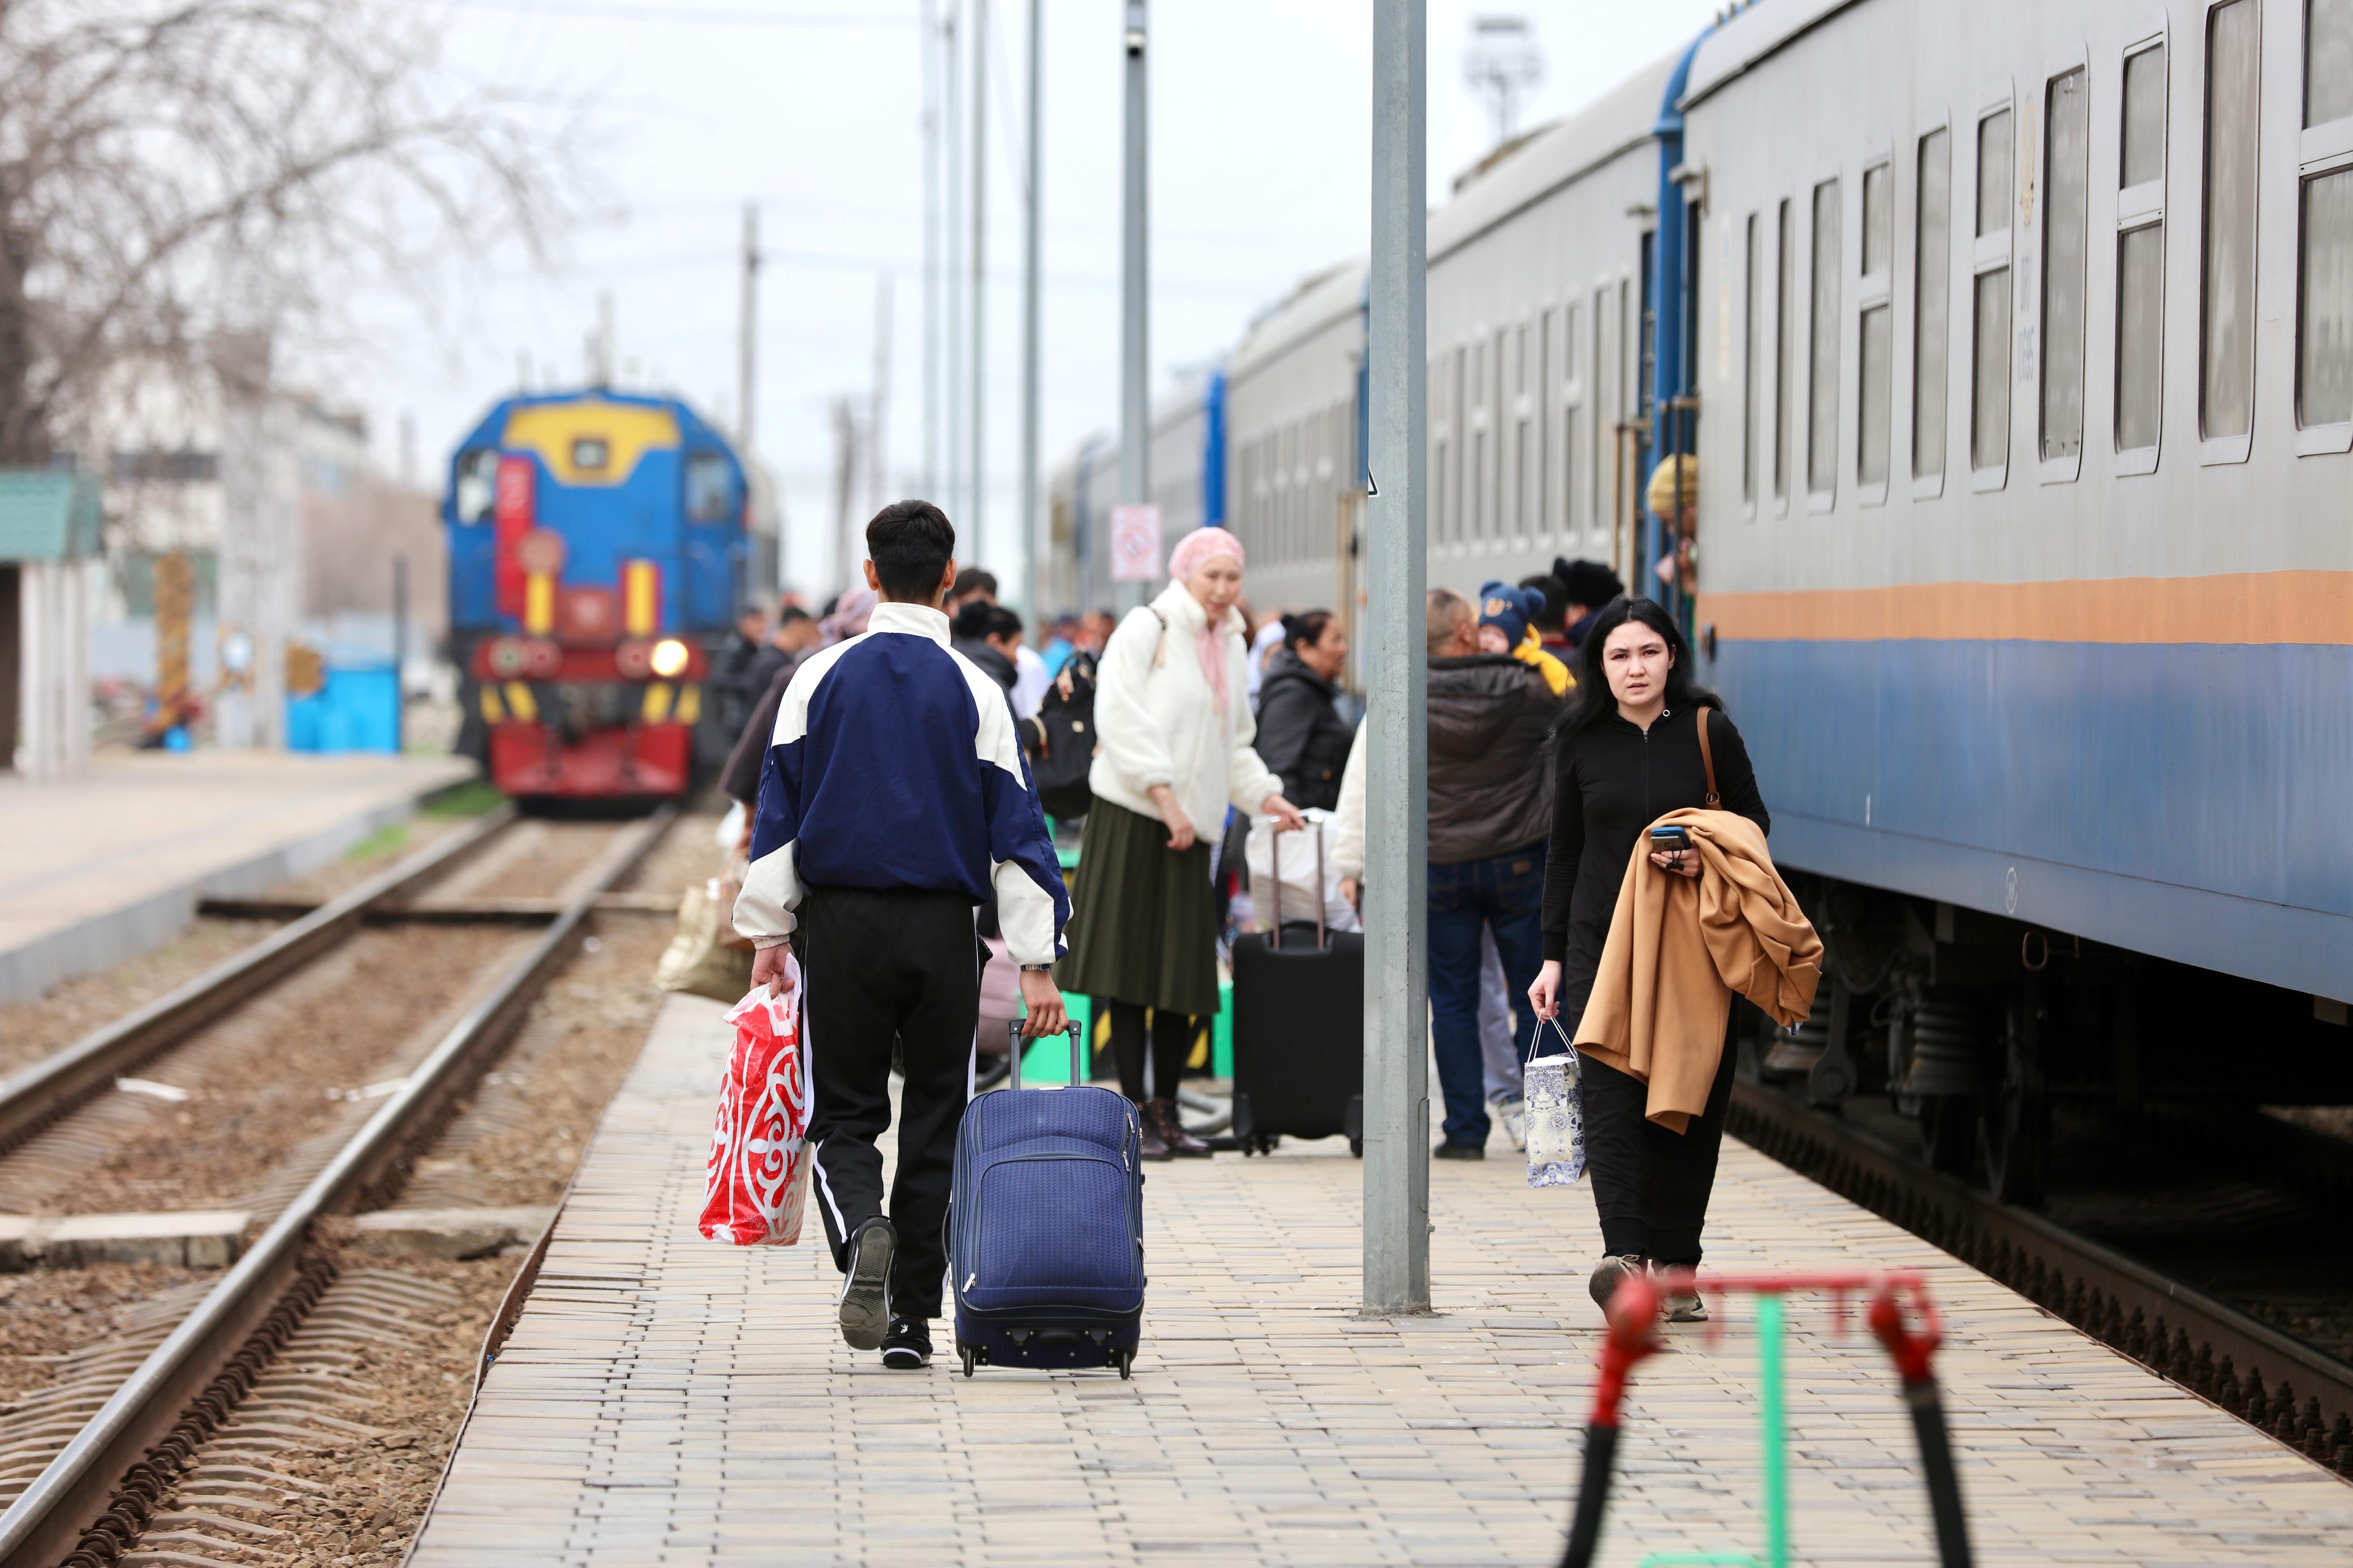
[[[478,823],[421,849],[400,865],[304,914],[292,926],[268,933],[179,990],[165,992],[24,1072],[0,1079],[0,1154],[89,1100],[118,1074],[176,1046],[228,1009],[327,952],[358,931],[362,922],[424,886],[454,858],[471,853],[511,820],[515,820],[513,806],[485,813]]]

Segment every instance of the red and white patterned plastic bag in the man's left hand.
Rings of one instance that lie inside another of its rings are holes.
[[[755,985],[727,1023],[736,1044],[720,1081],[720,1114],[704,1171],[701,1232],[732,1246],[793,1246],[809,1197],[809,1056],[802,1039],[800,964],[793,990]]]

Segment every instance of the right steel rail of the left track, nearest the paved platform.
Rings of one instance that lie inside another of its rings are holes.
[[[301,1197],[261,1232],[245,1258],[139,1363],[7,1514],[0,1514],[0,1568],[52,1568],[75,1552],[85,1530],[101,1521],[111,1521],[122,1544],[129,1544],[129,1537],[144,1526],[146,1507],[141,1505],[134,1516],[125,1516],[122,1507],[111,1512],[108,1500],[125,1481],[144,1479],[151,1493],[167,1488],[179,1455],[151,1455],[155,1443],[172,1434],[200,1394],[216,1406],[214,1420],[226,1415],[235,1394],[242,1394],[242,1380],[226,1396],[209,1385],[264,1326],[280,1298],[301,1286],[313,1225],[398,1180],[398,1166],[405,1157],[421,1135],[438,1128],[456,1095],[471,1086],[473,1070],[485,1067],[496,1046],[522,1023],[532,999],[584,936],[598,896],[645,858],[675,816],[675,806],[664,806],[605,856],[591,886],[449,1027],[431,1056],[409,1072],[402,1088],[386,1098],[367,1126],[336,1152]],[[153,1502],[153,1495],[146,1502]]]

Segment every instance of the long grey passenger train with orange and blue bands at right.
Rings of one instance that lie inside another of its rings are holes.
[[[1831,945],[1762,1072],[2014,1201],[2054,1107],[2353,1100],[2353,0],[1762,0],[1428,256],[1431,583],[1678,607]],[[1355,599],[1360,275],[1195,454],[1261,607]]]

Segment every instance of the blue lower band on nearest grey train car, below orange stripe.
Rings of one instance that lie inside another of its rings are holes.
[[[2353,646],[1725,642],[1774,858],[2353,990]]]

